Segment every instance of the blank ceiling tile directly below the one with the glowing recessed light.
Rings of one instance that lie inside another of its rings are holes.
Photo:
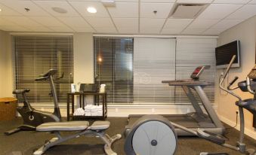
[[[97,27],[115,27],[112,20],[110,18],[94,18],[94,17],[86,17],[85,20],[91,24],[94,28]]]

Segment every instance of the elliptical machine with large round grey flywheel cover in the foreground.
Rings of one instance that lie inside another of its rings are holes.
[[[237,77],[230,82],[230,86],[226,88],[223,87],[224,79],[227,78],[227,74],[230,71],[230,67],[236,56],[230,61],[224,76],[221,78],[220,87],[221,90],[230,93],[235,96],[239,101],[236,105],[239,106],[239,117],[240,117],[240,135],[239,141],[237,141],[236,146],[226,143],[226,138],[222,135],[217,135],[212,132],[205,131],[204,129],[189,129],[185,126],[180,126],[177,123],[168,121],[165,117],[160,115],[144,115],[137,120],[131,129],[126,134],[125,139],[125,153],[126,155],[172,155],[176,153],[177,150],[177,133],[175,129],[181,129],[186,132],[196,135],[205,140],[211,141],[215,144],[219,144],[223,147],[230,148],[232,150],[237,150],[240,153],[245,153],[248,155],[256,155],[256,151],[253,149],[247,149],[246,145],[243,143],[244,139],[244,128],[245,120],[243,109],[247,109],[251,114],[256,114],[256,66],[251,70],[246,78],[246,81],[241,81],[238,87],[231,88],[231,86],[238,79]],[[235,93],[230,90],[235,90],[239,88],[243,92],[248,92],[254,95],[253,99],[242,100]],[[227,153],[200,153],[200,155],[226,155]]]

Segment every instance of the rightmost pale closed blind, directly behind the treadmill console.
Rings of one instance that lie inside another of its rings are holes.
[[[177,38],[176,49],[176,79],[190,78],[190,74],[197,66],[211,65],[200,76],[200,81],[207,81],[210,84],[204,87],[208,99],[214,102],[214,81],[215,81],[215,47],[217,41],[214,38]],[[195,93],[193,91],[193,93]],[[195,95],[197,95],[195,93]],[[196,96],[199,101],[199,97]],[[199,101],[200,102],[200,101]],[[175,87],[175,103],[187,104],[184,90],[181,87]]]

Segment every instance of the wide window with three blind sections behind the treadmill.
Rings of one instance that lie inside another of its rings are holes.
[[[170,87],[162,81],[189,79],[197,66],[211,65],[200,80],[210,84],[204,90],[214,103],[214,47],[213,38],[97,36],[94,82],[106,84],[110,104],[187,105],[190,101],[182,87]]]

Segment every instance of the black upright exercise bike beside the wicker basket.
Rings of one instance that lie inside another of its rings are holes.
[[[17,111],[23,118],[23,124],[16,129],[5,132],[5,135],[11,135],[21,130],[35,130],[35,127],[42,123],[60,122],[60,108],[57,102],[57,93],[53,81],[53,75],[56,73],[57,69],[50,69],[47,73],[43,74],[42,77],[35,79],[35,81],[49,81],[51,86],[51,95],[54,99],[54,112],[39,111],[32,108],[32,105],[30,105],[29,101],[26,99],[26,93],[29,93],[29,90],[14,90],[13,94],[21,94],[23,96],[23,106],[17,107]]]

